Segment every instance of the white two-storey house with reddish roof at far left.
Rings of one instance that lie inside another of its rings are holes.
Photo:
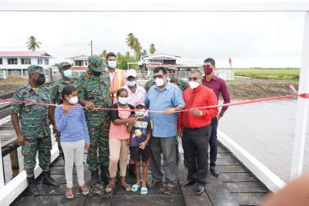
[[[40,65],[44,69],[49,67],[47,52],[0,52],[0,73],[5,76],[19,76],[27,78],[29,65]]]

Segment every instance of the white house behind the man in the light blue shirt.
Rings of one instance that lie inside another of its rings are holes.
[[[179,73],[186,71],[192,71],[201,69],[201,64],[187,64],[181,63],[180,56],[174,56],[170,54],[147,54],[141,56],[141,60],[139,61],[139,65],[141,66],[141,71],[147,71],[147,76],[153,76],[153,70],[156,67],[177,67],[179,68]]]

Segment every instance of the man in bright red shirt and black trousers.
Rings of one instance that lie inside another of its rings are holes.
[[[201,71],[192,71],[189,81],[190,88],[183,92],[183,99],[185,109],[190,111],[182,112],[178,122],[178,134],[183,137],[183,150],[188,165],[187,181],[180,185],[196,183],[196,194],[200,195],[205,191],[207,178],[211,118],[218,114],[218,107],[201,107],[217,105],[218,101],[215,93],[202,85]]]

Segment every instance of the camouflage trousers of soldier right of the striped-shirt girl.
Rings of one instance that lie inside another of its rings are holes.
[[[89,170],[95,172],[100,166],[109,165],[108,132],[111,120],[104,115],[86,115],[90,148],[87,155]]]

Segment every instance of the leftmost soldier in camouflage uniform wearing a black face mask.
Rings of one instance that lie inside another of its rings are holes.
[[[28,76],[29,83],[15,90],[13,100],[50,104],[49,89],[44,85],[43,67],[29,66]],[[38,151],[39,165],[43,170],[43,184],[49,187],[59,187],[59,184],[50,177],[49,172],[52,141],[47,117],[54,126],[55,122],[50,106],[12,103],[12,124],[16,131],[17,142],[22,146],[23,165],[27,173],[28,190],[32,196],[38,195],[38,187],[34,179],[36,151]],[[19,119],[21,119],[21,129],[19,128]]]

